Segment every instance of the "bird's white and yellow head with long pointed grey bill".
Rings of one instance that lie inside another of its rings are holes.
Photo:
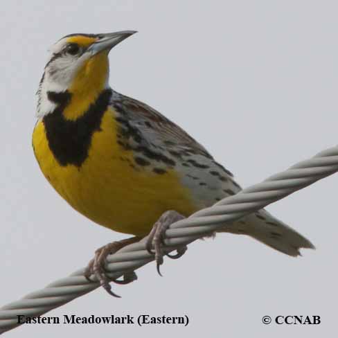
[[[76,110],[79,112],[82,105],[94,102],[109,86],[109,51],[134,33],[134,30],[125,30],[95,35],[71,34],[57,41],[51,48],[37,91],[37,116],[50,114],[57,106],[50,93],[68,94],[73,101],[78,101]],[[76,112],[73,111],[73,115]],[[72,119],[71,115],[68,117]]]

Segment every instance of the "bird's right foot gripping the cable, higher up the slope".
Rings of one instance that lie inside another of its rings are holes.
[[[160,276],[162,275],[159,267],[163,264],[163,250],[161,248],[161,244],[163,244],[163,233],[166,232],[166,229],[168,229],[168,226],[170,226],[170,224],[175,223],[179,220],[183,220],[184,218],[186,217],[184,217],[180,213],[177,213],[177,211],[166,211],[161,215],[161,217],[159,217],[159,220],[157,220],[154,226],[152,226],[152,230],[148,235],[145,247],[149,253],[155,255],[157,272],[159,272]],[[154,248],[154,252],[152,251],[152,247]],[[179,249],[177,249],[177,253],[175,255],[170,255],[169,253],[167,253],[167,256],[173,259],[177,259],[186,252],[186,249],[186,246],[180,247]]]

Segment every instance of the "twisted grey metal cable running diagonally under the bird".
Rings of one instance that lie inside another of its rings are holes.
[[[166,231],[163,251],[169,253],[214,231],[226,228],[226,224],[258,211],[272,202],[282,199],[296,190],[332,175],[338,171],[338,146],[319,152],[312,159],[301,161],[291,168],[265,179],[265,181],[226,197],[210,208],[197,211],[185,220],[170,225]],[[224,225],[225,224],[225,225]],[[154,256],[145,249],[146,238],[124,247],[107,258],[109,277],[119,278],[150,263]],[[84,269],[55,281],[42,290],[32,292],[23,299],[0,308],[0,334],[21,324],[17,315],[35,317],[57,308],[99,287],[99,283],[87,281]]]

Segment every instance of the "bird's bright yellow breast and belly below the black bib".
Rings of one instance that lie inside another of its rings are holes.
[[[35,156],[57,193],[94,222],[139,236],[147,235],[165,211],[183,215],[196,211],[175,170],[159,175],[139,168],[132,150],[118,145],[114,114],[111,107],[104,113],[80,167],[58,163],[49,148],[44,123],[37,123],[33,132]]]

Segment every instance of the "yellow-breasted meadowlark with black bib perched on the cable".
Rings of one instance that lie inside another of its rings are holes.
[[[181,127],[110,87],[109,52],[134,33],[75,33],[53,44],[37,90],[33,130],[35,158],[57,193],[94,223],[132,235],[97,249],[84,271],[113,296],[104,269],[109,253],[149,235],[146,247],[159,270],[163,233],[172,222],[241,190],[233,174]],[[118,66],[112,62],[113,69]],[[289,256],[314,249],[265,209],[219,232],[249,235]],[[125,274],[116,283],[135,276]]]

